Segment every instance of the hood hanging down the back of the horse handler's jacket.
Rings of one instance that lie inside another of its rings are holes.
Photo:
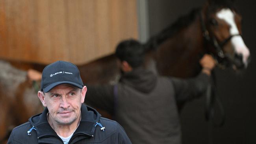
[[[120,82],[140,92],[149,93],[156,86],[156,80],[157,76],[153,72],[139,67],[131,72],[124,73],[121,76]]]

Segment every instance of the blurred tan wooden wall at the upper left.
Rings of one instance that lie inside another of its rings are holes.
[[[0,0],[0,59],[84,64],[138,37],[136,0]]]

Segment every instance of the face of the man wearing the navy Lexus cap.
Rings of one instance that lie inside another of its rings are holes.
[[[81,105],[84,102],[86,87],[78,89],[62,84],[45,93],[42,101],[48,108],[48,119],[57,125],[69,125],[80,120]]]

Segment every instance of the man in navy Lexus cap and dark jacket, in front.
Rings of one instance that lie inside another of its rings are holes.
[[[74,64],[57,61],[46,66],[38,92],[45,110],[14,128],[7,143],[131,144],[117,122],[82,104],[86,91]]]

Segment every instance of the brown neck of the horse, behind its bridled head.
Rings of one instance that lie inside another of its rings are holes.
[[[192,77],[200,72],[198,63],[204,54],[204,43],[200,19],[178,31],[163,42],[157,50],[157,69],[159,74],[176,77]]]

